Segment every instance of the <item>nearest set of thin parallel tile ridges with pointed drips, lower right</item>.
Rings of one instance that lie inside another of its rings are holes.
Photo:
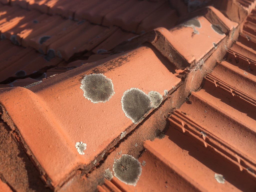
[[[188,131],[189,135],[199,140],[202,146],[207,147],[209,145],[212,148],[218,150],[219,153],[222,153],[224,156],[226,156],[226,158],[229,161],[232,160],[232,163],[235,163],[237,166],[239,166],[239,168],[241,168],[242,165],[240,164],[240,162],[237,161],[238,160],[236,156],[237,154],[243,161],[246,161],[251,165],[251,167],[254,167],[256,171],[256,161],[254,161],[253,159],[250,159],[246,155],[245,156],[241,155],[239,150],[230,146],[228,143],[218,138],[218,136],[210,133],[209,131],[207,131],[207,129],[204,129],[204,127],[197,125],[195,121],[183,115],[183,113],[181,113],[179,110],[174,111],[173,115],[171,115],[168,118],[168,120],[170,121],[170,123],[173,123],[175,126],[179,127],[179,129],[177,130],[179,130],[182,133],[185,133],[186,131]],[[183,121],[185,122],[185,124]],[[182,124],[178,122],[181,122]],[[170,126],[170,128],[176,129],[175,127],[172,127],[172,126]],[[201,131],[200,129],[203,131]],[[204,133],[206,136],[204,136],[202,133]],[[240,169],[240,171],[242,170]]]

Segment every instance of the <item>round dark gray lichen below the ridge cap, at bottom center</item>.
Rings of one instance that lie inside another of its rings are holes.
[[[113,164],[114,176],[127,185],[136,185],[141,175],[140,162],[131,155],[124,154]]]

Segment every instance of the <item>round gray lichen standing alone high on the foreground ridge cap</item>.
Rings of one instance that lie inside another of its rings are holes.
[[[93,103],[105,103],[115,93],[111,79],[102,73],[84,75],[80,88],[83,90],[83,96]]]

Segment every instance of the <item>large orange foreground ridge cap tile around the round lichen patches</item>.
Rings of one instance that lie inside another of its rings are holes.
[[[85,75],[97,73],[111,79],[114,87],[115,93],[104,103],[91,102],[80,89]],[[121,106],[126,90],[157,91],[163,96],[164,90],[180,81],[152,49],[140,47],[46,79],[29,88],[34,92],[10,89],[0,95],[0,101],[56,186],[76,166],[91,166],[130,127],[132,121]],[[86,144],[83,155],[75,147],[78,142]]]

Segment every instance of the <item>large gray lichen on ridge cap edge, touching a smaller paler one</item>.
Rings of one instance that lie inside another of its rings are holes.
[[[126,117],[135,124],[144,119],[144,115],[151,109],[149,96],[138,88],[125,91],[121,103]]]

